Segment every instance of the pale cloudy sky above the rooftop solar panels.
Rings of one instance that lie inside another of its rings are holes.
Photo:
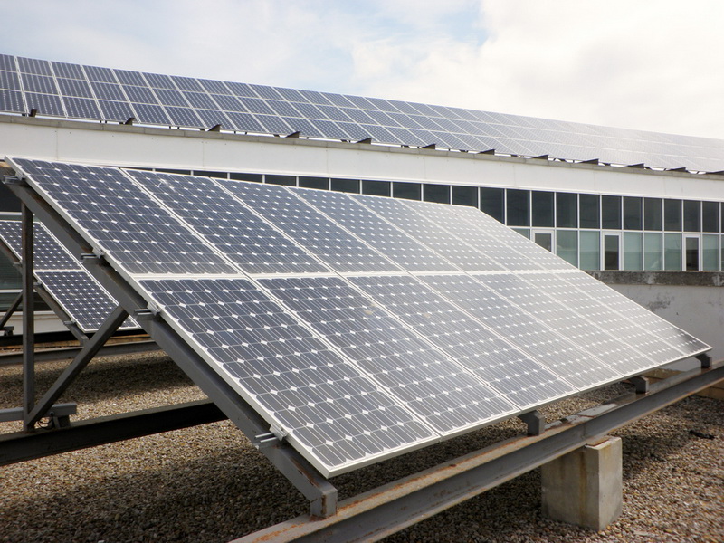
[[[724,138],[722,0],[0,0],[48,60]]]

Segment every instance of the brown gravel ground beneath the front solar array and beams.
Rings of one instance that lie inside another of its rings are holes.
[[[40,365],[38,389],[63,366]],[[20,368],[0,367],[0,408],[19,405],[20,391]],[[545,412],[559,418],[625,391],[608,386]],[[146,354],[94,360],[62,401],[90,418],[203,397],[167,357]],[[0,424],[0,433],[16,430]],[[522,430],[517,420],[495,424],[333,483],[344,499]],[[624,512],[603,532],[542,518],[534,471],[387,540],[724,541],[724,403],[691,397],[615,434],[624,440]],[[225,542],[307,507],[228,421],[0,468],[4,542]]]

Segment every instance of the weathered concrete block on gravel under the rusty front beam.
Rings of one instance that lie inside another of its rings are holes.
[[[620,437],[605,437],[541,467],[542,509],[549,519],[602,530],[621,515]]]

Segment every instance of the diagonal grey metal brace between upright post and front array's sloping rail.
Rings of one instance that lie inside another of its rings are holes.
[[[100,348],[105,345],[108,338],[114,334],[128,316],[129,314],[126,310],[120,306],[110,313],[110,316],[98,332],[93,334],[93,337],[90,338],[76,357],[73,358],[71,364],[65,368],[65,371],[56,379],[55,383],[48,389],[48,392],[46,392],[43,398],[34,406],[31,413],[27,414],[24,422],[28,428],[33,428],[33,426],[52,409],[53,403],[61,397],[62,393],[71,385],[75,377],[81,373],[82,369],[88,366],[90,360],[96,356]]]

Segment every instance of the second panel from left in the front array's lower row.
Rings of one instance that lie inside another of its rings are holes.
[[[342,279],[260,283],[436,432],[459,433],[514,411],[489,386]]]

